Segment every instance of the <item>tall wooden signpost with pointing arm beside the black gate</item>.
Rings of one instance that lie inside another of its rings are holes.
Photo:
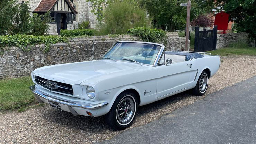
[[[180,6],[187,6],[187,24],[186,24],[186,43],[185,43],[185,51],[189,51],[188,49],[188,38],[189,38],[189,26],[190,26],[190,6],[191,1],[187,1],[187,3],[181,3]]]

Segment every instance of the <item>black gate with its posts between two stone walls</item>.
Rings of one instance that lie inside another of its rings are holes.
[[[217,46],[217,25],[212,30],[199,31],[199,27],[195,29],[194,51],[205,52],[216,50]]]

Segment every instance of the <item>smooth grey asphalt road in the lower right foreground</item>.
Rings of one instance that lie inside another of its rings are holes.
[[[99,144],[256,144],[256,76]]]

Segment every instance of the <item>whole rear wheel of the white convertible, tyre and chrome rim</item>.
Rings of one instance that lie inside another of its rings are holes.
[[[192,89],[193,93],[197,96],[204,95],[208,88],[208,82],[208,74],[207,72],[203,71],[196,83],[195,88]]]

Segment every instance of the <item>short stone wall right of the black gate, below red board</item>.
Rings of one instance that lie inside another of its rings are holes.
[[[228,47],[234,42],[246,41],[248,42],[248,34],[241,33],[227,33],[227,34],[218,34],[217,35],[217,49]]]

